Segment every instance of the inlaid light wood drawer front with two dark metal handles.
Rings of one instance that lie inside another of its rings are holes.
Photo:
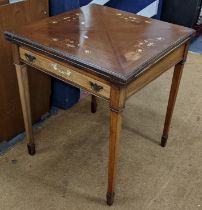
[[[94,78],[79,73],[69,67],[61,65],[56,61],[52,61],[44,56],[30,52],[27,49],[20,48],[20,58],[30,65],[45,70],[47,73],[58,76],[59,78],[69,81],[95,95],[104,98],[110,98],[110,85],[98,81]]]

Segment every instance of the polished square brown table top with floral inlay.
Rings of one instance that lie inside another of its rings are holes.
[[[92,4],[5,32],[5,37],[126,84],[193,34],[189,28]]]

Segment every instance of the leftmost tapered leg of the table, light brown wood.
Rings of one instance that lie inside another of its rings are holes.
[[[17,80],[20,92],[22,112],[25,124],[25,132],[27,138],[27,148],[30,155],[35,154],[35,144],[32,131],[32,118],[30,108],[29,83],[26,64],[16,64]]]

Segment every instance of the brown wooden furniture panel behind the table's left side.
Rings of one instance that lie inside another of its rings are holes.
[[[20,97],[12,46],[4,38],[4,31],[48,16],[48,0],[27,0],[0,6],[0,142],[8,140],[24,130]],[[49,110],[50,78],[29,67],[33,121],[39,120]]]

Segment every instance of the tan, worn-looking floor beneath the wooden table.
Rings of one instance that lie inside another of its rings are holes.
[[[90,98],[0,157],[0,210],[202,209],[202,56],[189,54],[167,147],[159,146],[172,71],[129,99],[123,114],[116,200],[105,204],[108,104]]]

